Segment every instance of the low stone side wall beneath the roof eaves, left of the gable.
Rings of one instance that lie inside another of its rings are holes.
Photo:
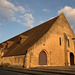
[[[24,56],[25,55],[3,57],[1,61],[2,61],[2,64],[9,64],[9,67],[23,68],[23,65],[25,65]]]

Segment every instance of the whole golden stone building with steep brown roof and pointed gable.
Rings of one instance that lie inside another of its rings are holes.
[[[75,34],[63,13],[0,44],[0,63],[14,67],[75,64]]]

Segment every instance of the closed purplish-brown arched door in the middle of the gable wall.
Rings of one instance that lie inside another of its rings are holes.
[[[47,55],[44,51],[39,54],[39,65],[47,65]]]

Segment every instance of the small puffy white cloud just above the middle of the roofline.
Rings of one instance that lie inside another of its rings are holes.
[[[27,26],[27,27],[33,27],[33,23],[34,23],[34,18],[32,16],[32,14],[25,14],[24,16],[20,16],[20,18],[22,18],[23,20],[25,20],[25,22],[22,22],[21,24]]]

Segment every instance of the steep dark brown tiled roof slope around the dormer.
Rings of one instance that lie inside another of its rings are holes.
[[[19,34],[7,40],[7,41],[14,41],[14,44],[10,48],[8,48],[8,51],[4,55],[4,57],[25,55],[28,48],[31,47],[34,43],[36,43],[51,28],[51,26],[57,20],[57,18],[58,17],[55,17],[43,24],[40,24],[22,34]],[[20,35],[28,37],[22,44],[17,43],[17,41],[19,41]]]

